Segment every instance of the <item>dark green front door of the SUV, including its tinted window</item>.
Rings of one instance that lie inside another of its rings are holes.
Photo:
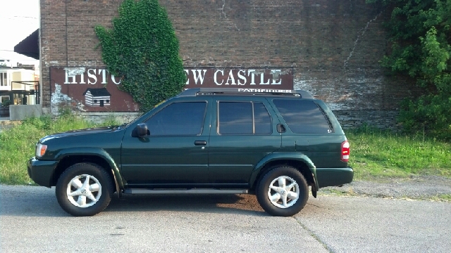
[[[144,120],[148,136],[125,134],[121,172],[129,186],[192,187],[209,182],[206,107],[206,101],[170,103]]]

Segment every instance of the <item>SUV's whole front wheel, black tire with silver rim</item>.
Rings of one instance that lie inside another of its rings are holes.
[[[109,205],[113,190],[111,176],[103,168],[97,164],[78,163],[61,174],[55,193],[59,205],[68,214],[93,216]]]

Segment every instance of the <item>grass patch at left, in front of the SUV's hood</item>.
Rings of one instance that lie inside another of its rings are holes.
[[[35,155],[35,145],[39,138],[73,129],[117,124],[109,119],[102,124],[94,124],[81,117],[64,113],[58,119],[32,117],[21,124],[0,133],[0,183],[33,183],[27,174],[27,161]]]

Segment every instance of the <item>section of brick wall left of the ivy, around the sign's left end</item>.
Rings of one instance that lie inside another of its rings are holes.
[[[121,0],[40,0],[42,106],[50,111],[49,67],[103,66],[95,25],[111,27]]]

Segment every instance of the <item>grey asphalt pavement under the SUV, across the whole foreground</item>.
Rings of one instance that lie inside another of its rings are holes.
[[[449,202],[320,193],[293,217],[253,195],[127,195],[72,217],[54,188],[0,185],[0,251],[450,252]]]

